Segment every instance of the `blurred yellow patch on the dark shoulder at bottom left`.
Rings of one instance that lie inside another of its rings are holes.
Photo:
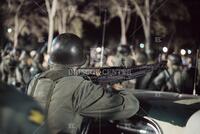
[[[32,109],[29,112],[28,119],[37,125],[41,125],[44,122],[45,117],[40,111]]]

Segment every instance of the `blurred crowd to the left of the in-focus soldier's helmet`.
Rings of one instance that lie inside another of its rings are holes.
[[[1,81],[24,92],[31,78],[47,68],[44,56],[35,50],[5,48],[1,51]]]

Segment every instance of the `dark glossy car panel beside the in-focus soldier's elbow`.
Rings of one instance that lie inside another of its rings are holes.
[[[200,109],[200,97],[186,94],[135,90],[140,102],[139,116],[148,116],[185,126],[190,116]]]

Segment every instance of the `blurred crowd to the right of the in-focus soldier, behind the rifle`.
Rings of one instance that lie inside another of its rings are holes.
[[[100,54],[99,54],[100,55]],[[178,53],[159,53],[152,49],[148,54],[144,51],[133,51],[129,46],[121,45],[105,58],[103,66],[133,67],[135,65],[156,64],[167,61],[165,70],[153,70],[146,75],[123,82],[125,88],[178,92],[186,94],[199,93],[199,74],[191,55],[181,56]],[[99,67],[99,64],[93,66]],[[196,76],[195,76],[196,75]],[[194,91],[194,86],[197,91]]]

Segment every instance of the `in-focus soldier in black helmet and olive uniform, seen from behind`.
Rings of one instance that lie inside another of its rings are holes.
[[[85,61],[79,37],[69,33],[58,35],[51,46],[50,69],[29,85],[28,94],[47,111],[54,134],[80,132],[84,117],[116,120],[129,118],[139,109],[133,94],[124,90],[110,93],[100,85],[70,74]]]

